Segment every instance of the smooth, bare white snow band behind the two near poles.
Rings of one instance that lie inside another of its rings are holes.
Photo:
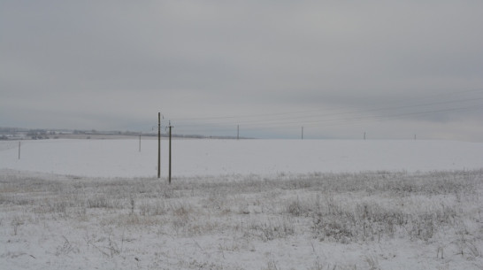
[[[161,174],[168,174],[168,142]],[[463,170],[483,166],[483,143],[453,141],[173,140],[172,174],[356,173]],[[0,168],[93,177],[157,175],[157,140],[0,142]]]

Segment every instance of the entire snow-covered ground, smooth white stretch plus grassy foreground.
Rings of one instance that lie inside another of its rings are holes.
[[[1,269],[482,269],[483,143],[0,142]]]

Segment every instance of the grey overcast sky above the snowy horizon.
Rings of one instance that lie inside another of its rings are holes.
[[[0,0],[0,127],[483,142],[482,11]]]

